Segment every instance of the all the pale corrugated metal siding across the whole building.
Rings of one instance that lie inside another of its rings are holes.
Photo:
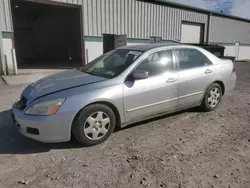
[[[148,39],[159,36],[180,40],[181,21],[205,24],[208,15],[195,11],[160,6],[137,0],[51,0],[83,5],[83,26],[86,36],[102,33],[127,34],[128,38]],[[13,31],[10,0],[0,0],[0,30]],[[250,44],[250,23],[211,16],[209,42]]]

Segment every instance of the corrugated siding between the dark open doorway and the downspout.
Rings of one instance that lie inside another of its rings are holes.
[[[136,0],[83,0],[86,36],[112,33],[127,34],[128,38],[180,40],[182,20],[204,23],[206,29],[207,17],[205,13]]]

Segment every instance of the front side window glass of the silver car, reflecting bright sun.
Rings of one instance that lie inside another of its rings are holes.
[[[172,51],[164,50],[150,54],[139,64],[136,70],[147,71],[149,76],[155,76],[158,74],[162,74],[166,71],[172,71]]]

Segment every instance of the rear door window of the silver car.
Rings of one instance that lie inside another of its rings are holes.
[[[204,66],[201,53],[193,49],[178,49],[175,51],[179,62],[179,69],[191,69]]]

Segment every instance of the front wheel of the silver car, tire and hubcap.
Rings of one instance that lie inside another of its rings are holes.
[[[83,146],[93,146],[104,142],[114,131],[115,114],[103,104],[93,104],[84,108],[76,117],[72,133]]]

